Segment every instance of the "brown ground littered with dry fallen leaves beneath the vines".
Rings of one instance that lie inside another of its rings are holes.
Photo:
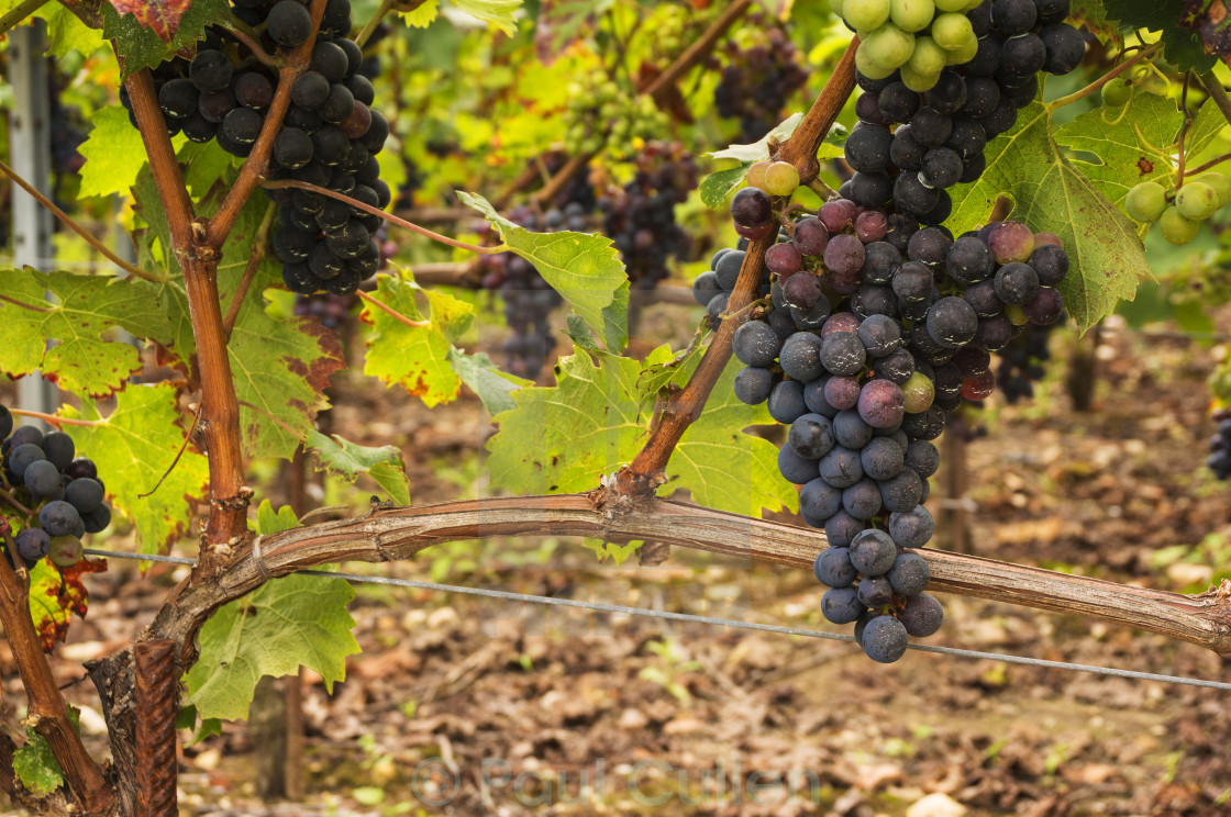
[[[651,309],[644,326],[666,336],[680,321]],[[1075,413],[1062,378],[1078,341],[1056,335],[1061,363],[1040,399],[996,407],[969,444],[971,551],[1204,588],[1231,554],[1231,488],[1201,468],[1213,433],[1204,378],[1220,349],[1107,333],[1094,411]],[[374,386],[336,391],[335,428],[415,452],[416,502],[485,491],[476,450],[490,429],[475,400],[427,411]],[[938,514],[943,486],[942,474]],[[563,539],[463,543],[417,564],[347,567],[840,631],[821,619],[824,588],[809,573],[678,549],[641,567],[598,564]],[[130,637],[176,575],[142,580],[113,564],[91,577],[90,615],[54,664],[62,682]],[[1225,660],[1192,645],[942,602],[933,644],[1231,680]],[[185,749],[181,813],[1231,815],[1222,691],[920,652],[884,667],[844,642],[371,586],[352,613],[364,651],[346,682],[327,696],[305,679],[304,801],[255,795],[260,748],[236,723]],[[0,669],[5,696],[20,700],[6,645]],[[92,688],[66,695],[103,753]]]

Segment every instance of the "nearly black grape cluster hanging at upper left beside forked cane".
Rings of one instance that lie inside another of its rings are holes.
[[[263,27],[262,46],[283,53],[311,34],[311,15],[300,0],[235,0],[235,15]],[[268,177],[293,178],[342,193],[377,208],[389,204],[375,155],[389,122],[372,110],[372,82],[359,73],[363,53],[351,33],[350,0],[329,0],[311,64],[291,90],[291,108],[273,143]],[[209,31],[190,62],[176,58],[154,69],[167,130],[247,156],[265,124],[278,78],[249,49]],[[132,101],[121,90],[132,116]],[[348,294],[375,274],[380,253],[373,235],[382,224],[357,207],[303,189],[267,191],[281,205],[273,252],[287,288],[299,294]]]

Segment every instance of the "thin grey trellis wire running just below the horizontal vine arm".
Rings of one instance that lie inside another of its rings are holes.
[[[196,560],[186,556],[160,556],[142,555],[114,550],[97,550],[85,548],[89,556],[103,556],[107,559],[134,559],[140,561],[167,562],[171,565],[193,565]],[[416,582],[409,578],[388,578],[384,576],[358,576],[356,573],[340,573],[329,570],[302,570],[300,576],[326,576],[330,578],[342,578],[348,582],[367,582],[369,584],[385,584],[390,587],[409,587],[423,591],[439,591],[444,593],[463,593],[467,596],[483,596],[486,598],[499,598],[511,602],[528,602],[531,604],[545,604],[555,607],[572,607],[598,613],[622,613],[625,615],[641,615],[651,619],[666,619],[670,621],[687,621],[691,624],[710,624],[719,626],[736,628],[740,630],[758,630],[761,632],[776,632],[778,635],[795,635],[805,639],[825,639],[828,641],[854,641],[854,636],[838,632],[824,632],[821,630],[809,630],[805,628],[787,628],[777,624],[758,624],[756,621],[739,621],[735,619],[713,619],[707,615],[693,615],[691,613],[672,613],[670,610],[649,610],[640,607],[624,607],[620,604],[603,604],[601,602],[577,602],[566,598],[550,598],[547,596],[529,596],[526,593],[513,593],[510,591],[494,591],[481,587],[460,587],[457,584],[438,584],[436,582]],[[927,644],[908,644],[907,650],[920,652],[934,652],[943,656],[955,656],[958,658],[990,658],[1003,661],[1004,663],[1024,664],[1027,667],[1044,667],[1048,669],[1065,669],[1069,672],[1088,672],[1096,676],[1112,676],[1115,678],[1131,678],[1134,680],[1157,680],[1171,684],[1184,684],[1188,687],[1205,687],[1208,689],[1221,689],[1231,691],[1231,683],[1221,680],[1206,680],[1204,678],[1188,678],[1185,676],[1162,676],[1152,672],[1137,672],[1135,669],[1117,669],[1114,667],[1098,667],[1093,664],[1078,664],[1066,661],[1048,661],[1045,658],[1030,658],[1027,656],[1012,656],[998,652],[981,652],[979,650],[959,650],[956,647],[938,647]]]

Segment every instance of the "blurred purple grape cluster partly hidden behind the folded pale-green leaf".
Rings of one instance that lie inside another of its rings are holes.
[[[569,229],[569,221],[583,219],[585,215],[580,212],[580,205],[571,214],[551,209],[542,217],[528,207],[517,207],[507,218],[527,230],[559,233]],[[495,229],[486,221],[480,230],[485,240],[499,240]],[[533,380],[555,348],[551,310],[563,304],[564,299],[543,279],[534,265],[513,252],[481,256],[478,272],[483,288],[499,292],[505,301],[505,321],[511,330],[508,340],[500,347],[506,356],[505,368]]]

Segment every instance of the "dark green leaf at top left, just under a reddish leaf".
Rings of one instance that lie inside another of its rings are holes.
[[[169,2],[182,4],[183,0],[154,0],[154,2],[129,2],[118,0],[121,6],[132,5],[145,10],[149,6],[165,6]],[[230,21],[230,4],[227,0],[192,0],[178,16],[174,32],[169,39],[161,36],[144,21],[153,21],[150,14],[143,14],[138,18],[132,11],[124,14],[116,7],[113,1],[103,2],[102,36],[116,42],[116,52],[119,57],[122,79],[143,68],[154,68],[164,59],[170,58],[175,52],[190,47],[203,34],[206,26],[225,23]]]

